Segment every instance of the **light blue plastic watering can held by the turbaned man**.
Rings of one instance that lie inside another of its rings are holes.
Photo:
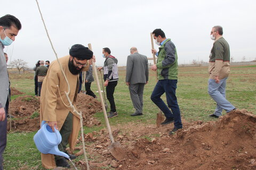
[[[60,132],[55,127],[53,132],[52,128],[45,121],[42,121],[41,129],[34,135],[34,142],[42,154],[59,155],[69,159],[68,154],[60,151],[58,148],[61,142]]]

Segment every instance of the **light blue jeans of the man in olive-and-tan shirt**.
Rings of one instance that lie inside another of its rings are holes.
[[[222,109],[227,113],[232,111],[235,107],[226,99],[226,82],[228,78],[220,80],[216,83],[214,79],[208,81],[208,94],[217,103],[214,115],[221,116]]]

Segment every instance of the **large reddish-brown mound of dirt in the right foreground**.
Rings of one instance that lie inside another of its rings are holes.
[[[85,139],[93,141],[86,151],[97,160],[90,162],[91,169],[256,169],[256,116],[246,111],[230,112],[216,122],[185,123],[172,136],[166,126],[154,127],[133,124],[114,131],[127,154],[120,162],[107,150],[106,130],[86,134]],[[77,165],[86,169],[81,161]]]

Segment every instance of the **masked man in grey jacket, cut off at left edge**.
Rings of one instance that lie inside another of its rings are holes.
[[[4,46],[9,46],[15,40],[21,29],[20,21],[13,15],[0,18],[0,170],[3,169],[3,152],[6,147],[7,119],[6,107],[9,95],[9,78],[4,56]]]

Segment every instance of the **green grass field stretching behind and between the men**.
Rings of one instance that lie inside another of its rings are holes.
[[[208,115],[212,114],[215,102],[207,94],[207,67],[179,67],[179,79],[177,97],[181,109],[181,116],[186,121],[212,121]],[[11,87],[14,87],[25,95],[34,95],[34,74],[10,74]],[[125,70],[119,69],[119,81],[115,90],[116,108],[118,117],[110,119],[110,125],[134,123],[154,123],[158,108],[150,100],[151,92],[156,84],[155,72],[150,71],[149,83],[144,91],[143,116],[131,117],[134,112],[130,99],[129,89],[125,85]],[[95,82],[92,90],[97,91]],[[256,66],[231,67],[227,81],[227,99],[239,109],[256,113]],[[96,94],[97,95],[97,94]],[[12,99],[18,96],[13,96]],[[165,96],[163,96],[165,100]],[[225,114],[225,112],[223,112]],[[85,132],[98,131],[105,128],[102,113],[95,116],[102,122],[100,126],[84,128]],[[39,151],[36,149],[33,136],[36,132],[9,132],[7,135],[7,147],[4,153],[5,169],[43,169]],[[90,155],[89,155],[90,158]],[[23,167],[23,168],[21,168]]]

